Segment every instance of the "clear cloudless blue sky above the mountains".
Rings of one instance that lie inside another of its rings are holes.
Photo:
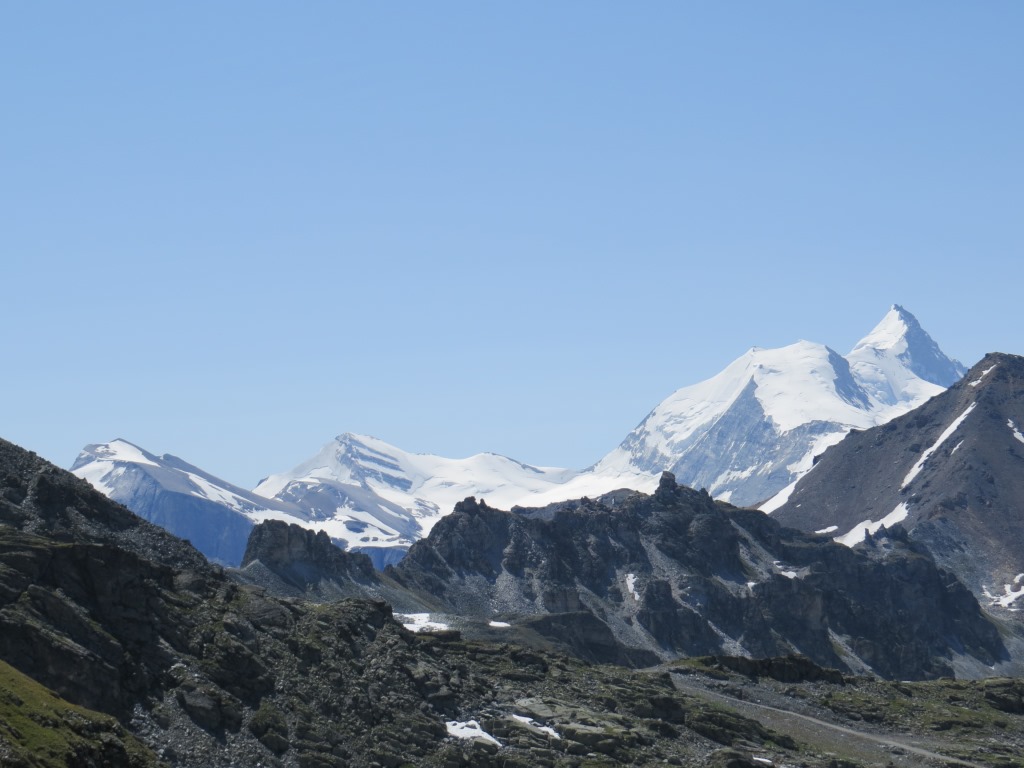
[[[6,2],[0,435],[582,467],[893,302],[1024,353],[1024,3]]]

